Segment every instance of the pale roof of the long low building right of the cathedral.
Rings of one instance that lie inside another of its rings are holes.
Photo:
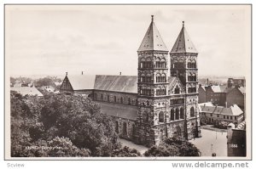
[[[236,104],[231,105],[229,108],[225,108],[222,106],[201,105],[201,111],[222,115],[241,115],[243,113],[242,110]]]

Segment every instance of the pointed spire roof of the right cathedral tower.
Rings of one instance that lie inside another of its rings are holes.
[[[185,29],[184,21],[182,30],[178,34],[177,40],[172,47],[171,53],[198,53]]]

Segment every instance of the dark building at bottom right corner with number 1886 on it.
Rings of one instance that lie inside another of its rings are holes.
[[[236,127],[235,124],[228,125],[227,151],[228,156],[247,156],[246,122],[242,121]]]

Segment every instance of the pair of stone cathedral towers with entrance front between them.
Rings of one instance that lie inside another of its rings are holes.
[[[163,138],[201,137],[198,53],[185,30],[184,22],[169,53],[152,15],[137,54],[136,142],[150,146],[159,144]]]

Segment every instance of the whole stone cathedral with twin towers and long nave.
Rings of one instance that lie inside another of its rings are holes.
[[[78,93],[113,118],[119,138],[152,146],[163,138],[201,137],[198,110],[198,52],[184,22],[172,50],[166,48],[154,15],[137,50],[137,76],[66,75],[61,93]]]

